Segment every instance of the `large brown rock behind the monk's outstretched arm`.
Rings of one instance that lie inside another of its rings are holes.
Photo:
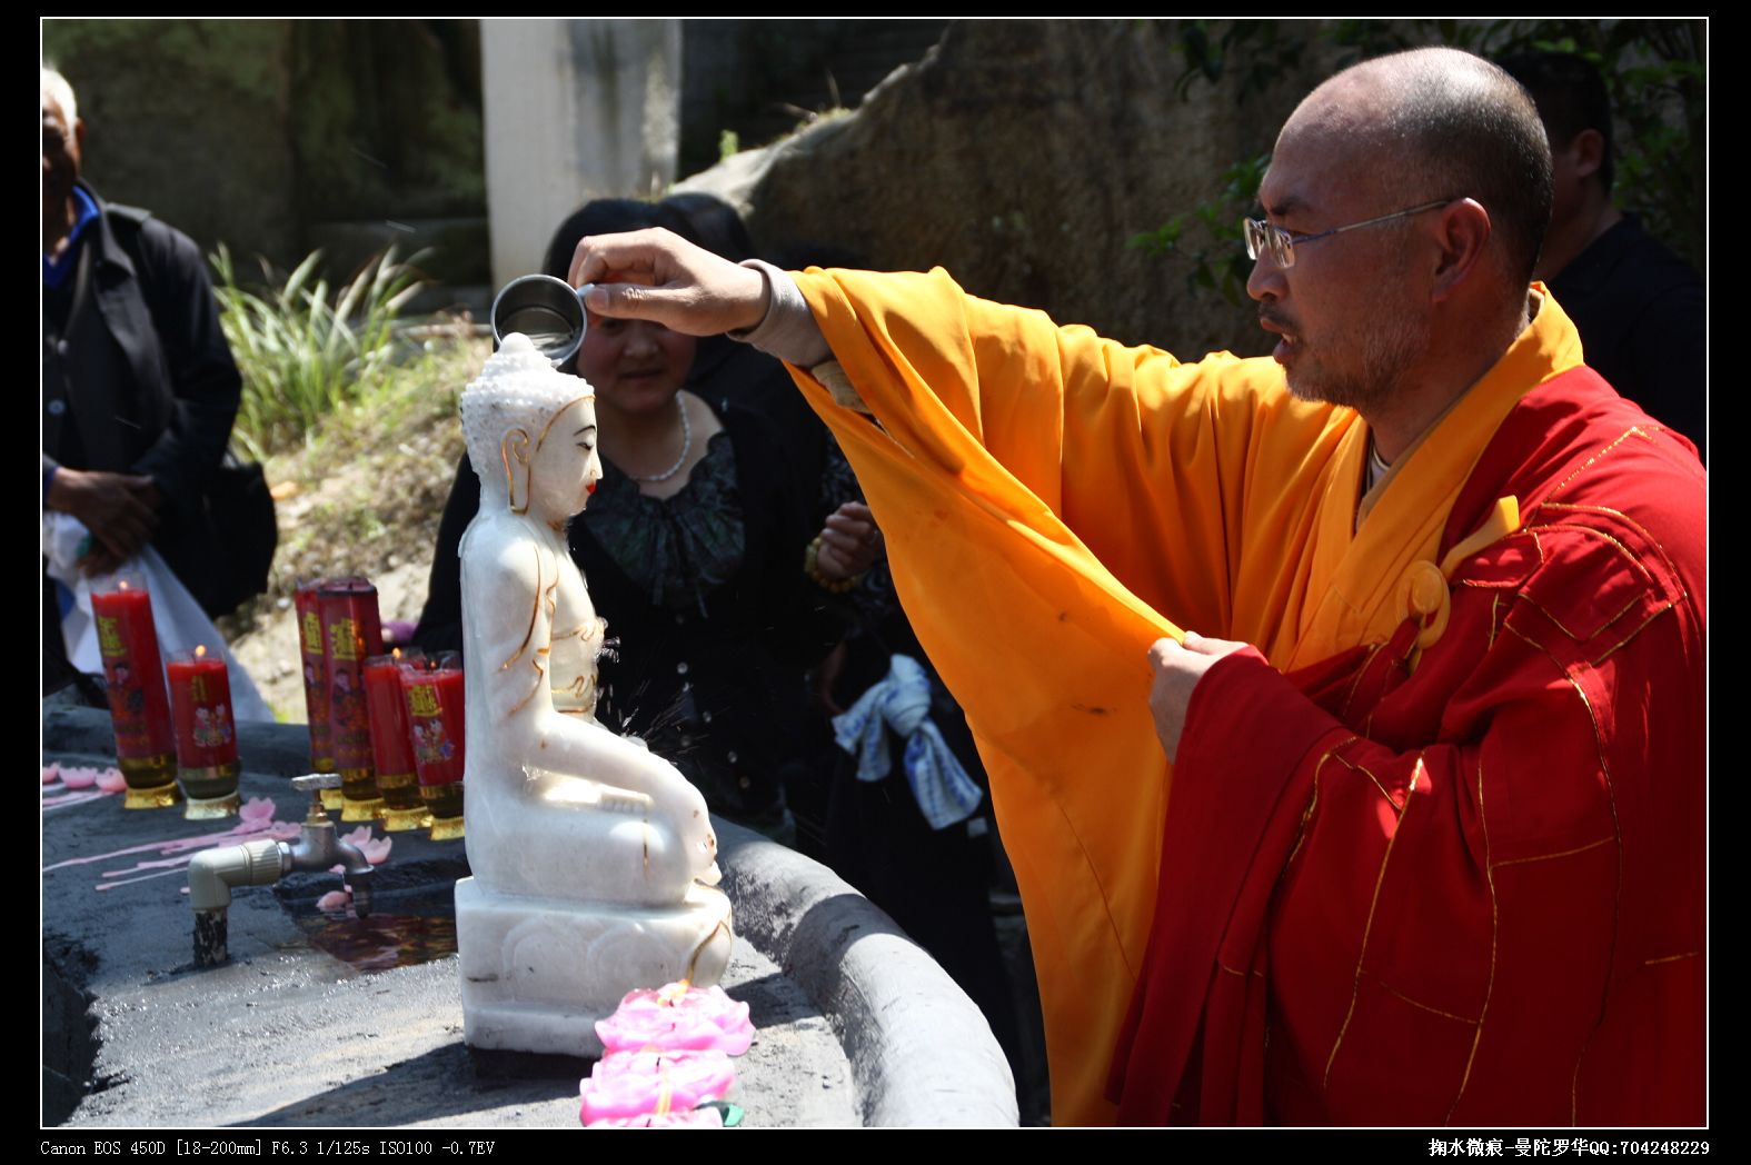
[[[1198,82],[1175,21],[956,21],[861,107],[735,154],[678,189],[737,205],[763,254],[946,266],[970,293],[1184,357],[1268,350],[1247,307],[1192,296],[1187,265],[1129,247],[1213,198],[1324,74],[1311,42],[1262,93]],[[1238,245],[1238,244],[1236,244]]]

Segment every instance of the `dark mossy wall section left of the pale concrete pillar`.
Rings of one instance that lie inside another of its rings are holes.
[[[42,53],[107,198],[240,259],[348,273],[397,242],[485,282],[475,21],[46,19]]]

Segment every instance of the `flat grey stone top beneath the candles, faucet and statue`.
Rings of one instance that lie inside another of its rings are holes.
[[[282,822],[303,818],[306,802],[285,778],[245,774],[243,794],[271,795]],[[236,890],[231,960],[210,969],[193,965],[180,867],[96,890],[140,860],[161,860],[156,850],[49,869],[228,823],[184,822],[175,809],[124,813],[119,795],[42,815],[44,957],[56,971],[44,1020],[60,1034],[56,1070],[67,1077],[60,1111],[49,1111],[46,1090],[46,1121],[576,1128],[588,1062],[504,1070],[504,1058],[478,1062],[462,1042],[448,916],[450,886],[466,871],[461,843],[394,834],[366,920],[315,909],[340,876]],[[749,1004],[758,1028],[730,1095],[744,1125],[856,1125],[844,1051],[797,983],[737,939],[725,988]],[[46,1048],[46,1079],[47,1070]],[[68,1100],[77,1100],[70,1116]]]

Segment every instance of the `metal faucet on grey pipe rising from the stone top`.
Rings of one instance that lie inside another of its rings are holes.
[[[326,871],[336,862],[347,867],[352,906],[359,918],[371,913],[371,864],[359,846],[341,841],[334,822],[322,808],[322,790],[340,788],[340,774],[310,773],[294,776],[292,788],[310,794],[310,811],[298,841],[261,839],[240,846],[203,850],[189,862],[189,906],[194,907],[194,965],[215,967],[226,962],[226,909],[231,886],[271,886],[292,871]]]

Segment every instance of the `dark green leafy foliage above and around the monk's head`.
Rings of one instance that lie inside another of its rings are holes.
[[[1247,102],[1324,40],[1338,49],[1334,65],[1445,44],[1478,56],[1550,51],[1578,53],[1606,77],[1616,116],[1618,205],[1642,214],[1649,233],[1665,240],[1697,270],[1707,270],[1707,30],[1698,19],[1338,19],[1182,21],[1178,53],[1184,70],[1175,91],[1191,100],[1199,84],[1236,81]],[[1217,291],[1241,303],[1247,273],[1241,215],[1255,212],[1255,196],[1269,154],[1234,163],[1222,187],[1189,212],[1131,238],[1142,251],[1187,265],[1187,286]]]

